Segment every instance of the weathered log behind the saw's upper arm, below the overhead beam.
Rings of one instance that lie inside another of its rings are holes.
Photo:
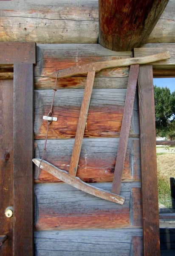
[[[37,66],[35,67],[35,88],[51,89],[55,79],[48,78],[56,70],[93,61],[110,61],[113,59],[130,58],[129,52],[113,52],[99,44],[48,44],[37,46]],[[101,70],[96,74],[94,88],[126,88],[128,67]],[[58,79],[58,88],[83,88],[85,76],[73,76]]]

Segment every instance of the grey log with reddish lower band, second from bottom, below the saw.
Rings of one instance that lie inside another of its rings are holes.
[[[111,185],[112,183],[93,184],[108,191],[111,191]],[[133,187],[138,189],[131,192]],[[65,183],[37,184],[35,229],[141,227],[141,223],[135,226],[133,222],[135,212],[137,217],[141,216],[141,200],[135,200],[135,193],[141,193],[140,183],[122,183],[121,195],[125,197],[125,201],[121,205],[96,198]]]

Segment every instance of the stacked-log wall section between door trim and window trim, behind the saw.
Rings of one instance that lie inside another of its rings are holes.
[[[37,45],[35,67],[35,157],[42,156],[56,70],[91,61],[133,57],[99,44]],[[129,67],[96,74],[77,176],[111,191]],[[58,80],[45,160],[69,170],[85,76]],[[79,191],[35,167],[37,255],[141,255],[141,183],[137,96],[122,178],[124,205]],[[137,247],[137,244],[139,246]]]

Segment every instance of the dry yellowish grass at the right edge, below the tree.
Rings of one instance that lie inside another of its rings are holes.
[[[158,153],[158,201],[166,208],[171,208],[169,177],[175,177],[175,154]]]

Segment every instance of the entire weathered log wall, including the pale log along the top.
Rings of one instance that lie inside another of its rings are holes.
[[[114,52],[98,41],[98,0],[1,2],[0,41],[37,42],[35,66],[34,136],[35,157],[42,156],[46,122],[53,95],[49,75],[92,61],[130,58],[170,50],[171,59],[153,65],[156,77],[174,76],[175,1],[169,0],[148,43],[142,49]],[[8,22],[7,22],[8,20]],[[67,44],[69,43],[69,44]],[[2,70],[1,70],[2,71]],[[12,78],[13,70],[0,73]],[[129,67],[102,70],[95,76],[77,176],[93,186],[111,191],[119,143]],[[85,76],[58,80],[54,115],[48,134],[45,160],[69,170]],[[121,195],[123,205],[95,198],[49,175],[35,166],[36,256],[141,256],[141,168],[136,95],[130,138],[124,165]]]

